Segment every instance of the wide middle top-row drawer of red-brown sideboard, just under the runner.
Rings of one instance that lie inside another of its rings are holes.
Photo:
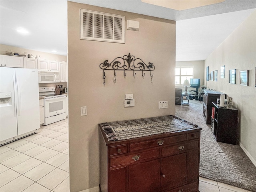
[[[145,149],[145,148],[152,148],[157,146],[165,146],[168,144],[181,142],[181,141],[186,141],[186,134],[160,138],[160,139],[151,140],[151,141],[132,143],[130,144],[130,151],[135,151],[135,150]]]

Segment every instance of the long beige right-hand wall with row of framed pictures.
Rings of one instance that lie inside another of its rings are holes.
[[[205,60],[209,72],[218,70],[218,81],[207,87],[226,93],[238,108],[240,146],[256,166],[256,11],[226,38]],[[225,78],[220,66],[225,65]],[[229,70],[236,69],[236,84],[229,84]],[[240,70],[249,70],[249,86],[239,85]]]

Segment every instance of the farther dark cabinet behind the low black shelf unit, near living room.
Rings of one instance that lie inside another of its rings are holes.
[[[212,102],[216,102],[220,95],[224,94],[220,91],[204,90],[203,95],[203,116],[206,124],[211,124],[212,122]]]

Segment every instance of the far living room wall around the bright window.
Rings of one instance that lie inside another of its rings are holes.
[[[178,61],[176,62],[176,67],[193,67],[193,78],[199,78],[200,84],[204,84],[204,61]],[[185,92],[184,86],[176,86],[182,88]],[[195,90],[195,88],[188,87],[189,90]]]

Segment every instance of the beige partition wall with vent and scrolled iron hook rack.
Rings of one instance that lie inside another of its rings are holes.
[[[95,10],[140,22],[140,31],[126,30],[126,43],[80,40],[79,9]],[[150,73],[103,71],[99,65],[131,53],[155,66]],[[98,123],[175,114],[175,22],[140,14],[68,2],[68,95],[70,143],[70,191],[99,185]],[[134,94],[135,106],[124,108],[124,94]],[[158,109],[158,101],[168,101]],[[87,106],[87,116],[80,107]]]

